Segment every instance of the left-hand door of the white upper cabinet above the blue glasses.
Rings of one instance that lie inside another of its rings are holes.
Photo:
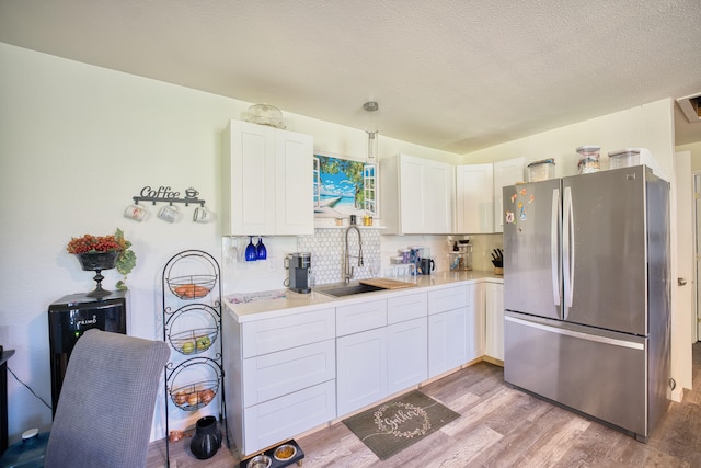
[[[225,233],[275,233],[275,128],[231,121],[223,165]]]

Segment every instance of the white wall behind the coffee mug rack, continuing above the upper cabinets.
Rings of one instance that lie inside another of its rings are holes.
[[[138,256],[127,281],[128,333],[161,339],[165,262],[185,249],[221,260],[221,227],[218,220],[189,221],[192,207],[175,225],[153,213],[139,224],[123,212],[143,186],[164,185],[197,189],[217,213],[221,133],[251,103],[1,43],[0,69],[0,343],[16,351],[9,367],[50,402],[47,308],[64,295],[94,286],[93,274],[80,270],[66,243],[122,228]],[[285,118],[290,130],[313,135],[315,150],[365,156],[364,130],[289,113]],[[381,156],[404,151],[458,159],[380,138]],[[276,243],[286,248],[289,240]],[[105,287],[113,288],[116,272],[103,274]],[[26,429],[48,429],[50,410],[12,377],[9,399],[11,442]],[[162,437],[162,410],[157,411],[152,436]]]

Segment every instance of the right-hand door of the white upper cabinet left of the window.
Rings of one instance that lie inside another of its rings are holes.
[[[286,130],[276,130],[275,136],[275,232],[313,235],[312,138]]]

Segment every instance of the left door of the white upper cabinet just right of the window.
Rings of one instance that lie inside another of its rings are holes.
[[[399,203],[401,232],[403,233],[425,232],[426,186],[424,185],[424,171],[423,159],[400,155]]]

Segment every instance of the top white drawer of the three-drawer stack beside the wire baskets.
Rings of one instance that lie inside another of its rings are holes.
[[[335,338],[335,320],[331,308],[245,322],[241,331],[243,358]]]

